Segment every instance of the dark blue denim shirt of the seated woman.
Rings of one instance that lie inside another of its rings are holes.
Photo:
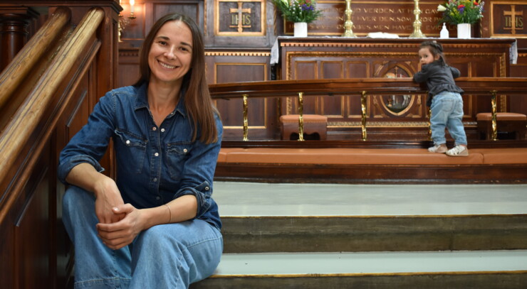
[[[125,203],[137,209],[157,207],[182,195],[197,199],[197,216],[221,229],[218,206],[212,199],[212,180],[223,126],[215,115],[218,141],[204,144],[192,139],[192,125],[184,107],[184,92],[176,109],[157,126],[147,102],[147,84],[114,89],[100,98],[88,124],[61,152],[58,178],[66,184],[70,170],[98,162],[110,138],[115,147],[116,183]]]

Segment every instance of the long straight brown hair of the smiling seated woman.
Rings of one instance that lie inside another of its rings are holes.
[[[150,80],[150,66],[148,65],[148,53],[154,42],[154,38],[161,27],[169,21],[181,21],[192,31],[192,60],[190,69],[183,77],[182,89],[186,91],[184,96],[184,106],[192,124],[192,141],[197,139],[199,131],[199,141],[203,143],[214,143],[218,141],[218,128],[214,121],[214,114],[219,112],[212,104],[209,93],[209,86],[205,78],[205,45],[202,32],[197,24],[187,16],[179,13],[170,13],[160,18],[141,45],[139,53],[140,78],[133,84],[135,87]]]

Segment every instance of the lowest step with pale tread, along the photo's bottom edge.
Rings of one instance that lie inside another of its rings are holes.
[[[192,289],[525,288],[527,251],[226,253]]]

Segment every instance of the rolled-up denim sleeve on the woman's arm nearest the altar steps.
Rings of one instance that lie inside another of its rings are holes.
[[[194,195],[196,197],[197,214],[194,219],[202,217],[212,205],[212,181],[216,170],[219,149],[221,148],[221,137],[223,136],[223,126],[217,116],[216,128],[218,141],[215,143],[194,142],[190,156],[184,164],[182,186],[173,197],[173,199],[183,195]]]

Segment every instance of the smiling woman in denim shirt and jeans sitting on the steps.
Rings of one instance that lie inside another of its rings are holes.
[[[202,37],[186,16],[157,21],[141,48],[140,79],[101,97],[63,149],[58,175],[71,185],[63,222],[75,244],[75,286],[188,288],[218,265],[212,180],[222,125]],[[110,138],[117,180],[98,163]]]

